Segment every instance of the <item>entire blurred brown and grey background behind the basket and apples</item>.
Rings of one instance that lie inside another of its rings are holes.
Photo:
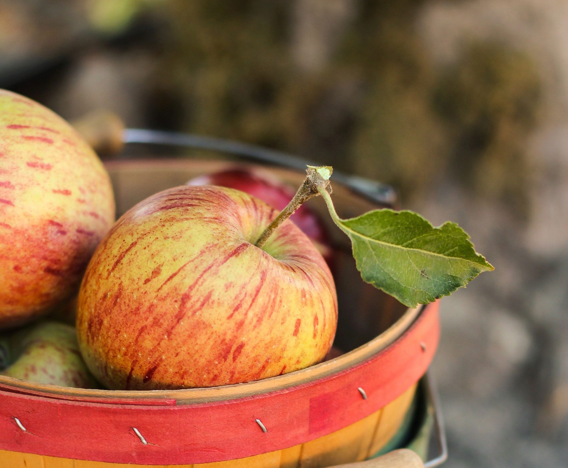
[[[495,265],[442,300],[445,466],[568,466],[568,2],[0,0],[0,87],[390,183]]]

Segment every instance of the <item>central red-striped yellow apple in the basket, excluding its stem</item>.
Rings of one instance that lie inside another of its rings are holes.
[[[181,186],[137,204],[95,251],[77,332],[111,389],[249,382],[324,359],[337,323],[335,285],[314,244],[244,192]]]

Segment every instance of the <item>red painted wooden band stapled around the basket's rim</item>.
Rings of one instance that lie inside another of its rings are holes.
[[[439,332],[435,302],[398,340],[357,366],[280,391],[211,403],[89,403],[0,386],[0,449],[150,465],[285,449],[355,423],[401,395],[427,370]]]

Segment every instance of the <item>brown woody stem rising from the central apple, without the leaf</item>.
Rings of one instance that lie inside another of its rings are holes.
[[[294,198],[291,199],[290,203],[288,203],[278,216],[274,218],[273,222],[266,227],[254,245],[261,248],[264,244],[266,244],[266,241],[268,241],[270,236],[273,235],[274,231],[276,231],[283,222],[290,218],[290,216],[294,214],[294,211],[298,210],[302,203],[312,197],[317,197],[320,194],[320,189],[331,194],[332,189],[328,179],[329,176],[331,176],[332,170],[331,166],[308,166],[306,169],[306,179],[302,185],[300,185],[300,188],[294,195]]]

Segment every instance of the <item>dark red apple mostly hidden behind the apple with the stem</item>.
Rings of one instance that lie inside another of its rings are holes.
[[[273,174],[260,169],[237,166],[213,174],[204,174],[187,182],[187,185],[219,185],[260,198],[270,206],[283,210],[294,197],[295,191]],[[310,237],[328,264],[332,262],[333,248],[325,225],[318,215],[306,205],[294,212],[290,219]]]

